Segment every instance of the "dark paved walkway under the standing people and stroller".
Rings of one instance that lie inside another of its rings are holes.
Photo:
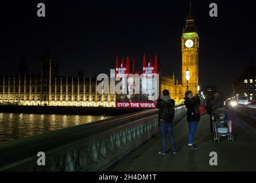
[[[157,136],[113,171],[256,171],[256,134],[243,122],[233,124],[235,142],[226,138],[215,144],[210,137],[210,119],[201,117],[194,142],[198,150],[189,150],[186,119],[174,127],[177,154],[157,155],[160,137]],[[169,140],[168,148],[170,148]],[[218,153],[218,165],[210,166],[210,152]]]

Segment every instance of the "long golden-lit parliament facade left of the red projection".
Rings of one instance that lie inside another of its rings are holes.
[[[115,94],[100,95],[96,77],[60,77],[58,64],[45,49],[40,73],[28,74],[21,58],[18,73],[0,77],[0,104],[42,106],[115,106]]]

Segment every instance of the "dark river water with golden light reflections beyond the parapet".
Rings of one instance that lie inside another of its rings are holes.
[[[111,116],[0,113],[0,142],[71,126],[104,120]]]

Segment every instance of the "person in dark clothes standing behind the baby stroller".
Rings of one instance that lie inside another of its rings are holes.
[[[216,109],[223,108],[223,101],[220,100],[220,94],[218,91],[214,92],[214,96],[211,97],[206,105],[206,110],[208,114],[210,114],[210,129],[211,129],[211,134],[214,133],[214,127],[212,125],[212,112]]]

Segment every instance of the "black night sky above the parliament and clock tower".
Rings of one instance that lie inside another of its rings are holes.
[[[37,17],[37,3],[46,17]],[[209,5],[218,5],[210,17]],[[193,1],[200,37],[199,83],[217,84],[230,93],[232,79],[256,59],[256,6],[253,1]],[[1,2],[0,73],[16,73],[24,54],[30,73],[38,73],[40,57],[50,40],[61,75],[109,73],[115,56],[134,55],[141,70],[143,53],[157,53],[163,72],[181,80],[181,33],[189,10],[179,1],[8,1]]]

